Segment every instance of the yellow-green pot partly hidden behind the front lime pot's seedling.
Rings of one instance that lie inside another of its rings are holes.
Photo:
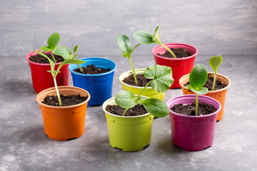
[[[146,70],[145,68],[136,69],[135,73],[136,74],[144,73],[145,70]],[[131,85],[126,84],[126,83],[123,82],[124,78],[128,77],[131,73],[133,73],[132,70],[131,71],[126,71],[125,73],[122,73],[121,76],[119,76],[119,81],[122,84],[123,90],[129,90],[134,95],[138,95],[140,93],[140,91],[143,89],[143,87],[131,86]],[[143,93],[141,95],[145,95],[148,98],[157,98],[157,99],[162,100],[162,101],[165,100],[165,93],[157,93],[156,90],[154,90],[151,87],[147,87],[145,90],[143,90]]]

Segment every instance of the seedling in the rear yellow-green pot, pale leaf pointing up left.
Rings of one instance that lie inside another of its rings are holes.
[[[126,58],[129,58],[129,62],[131,64],[131,68],[133,71],[133,76],[135,79],[135,83],[137,84],[137,80],[136,80],[136,73],[135,70],[133,68],[133,64],[131,61],[131,55],[133,53],[133,51],[135,51],[136,47],[138,47],[141,44],[137,44],[136,46],[134,46],[133,48],[131,48],[131,43],[129,42],[129,37],[126,35],[119,35],[116,37],[116,42],[119,46],[119,48],[121,49],[121,51],[124,53],[123,56]]]

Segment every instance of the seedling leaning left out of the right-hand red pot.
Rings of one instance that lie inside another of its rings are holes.
[[[158,33],[158,29],[159,29],[159,26],[156,27],[156,30],[154,31],[153,35],[151,33],[149,33],[148,31],[138,30],[133,33],[133,37],[136,39],[136,41],[143,43],[143,44],[157,43],[157,44],[163,46],[163,48],[166,48],[166,50],[169,53],[171,53],[173,58],[176,58],[176,55],[173,53],[173,51],[171,51],[170,48],[168,48],[163,43],[161,43],[161,41],[160,41],[161,34]]]

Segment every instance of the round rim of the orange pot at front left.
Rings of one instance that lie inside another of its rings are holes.
[[[45,90],[42,90],[39,94],[36,95],[36,102],[39,103],[39,105],[43,105],[44,107],[46,108],[58,108],[58,109],[65,109],[65,108],[76,108],[80,105],[84,105],[85,103],[88,103],[91,96],[89,94],[89,92],[87,90],[84,90],[83,88],[79,88],[79,87],[74,87],[74,86],[58,86],[59,88],[59,93],[61,94],[61,88],[71,88],[71,89],[74,89],[74,90],[80,90],[80,91],[84,91],[86,92],[89,97],[82,103],[79,103],[79,104],[76,104],[76,105],[69,105],[69,106],[53,106],[53,105],[46,105],[44,103],[42,103],[40,100],[39,100],[39,96],[41,96],[43,93],[46,93],[48,91],[52,91],[52,90],[55,90],[55,87],[52,87],[52,88],[47,88]]]

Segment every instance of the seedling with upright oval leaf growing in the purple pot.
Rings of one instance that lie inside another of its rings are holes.
[[[203,87],[207,81],[208,73],[202,64],[198,64],[189,74],[189,83],[186,88],[196,93],[196,115],[198,111],[198,94],[205,95],[208,93],[208,88]]]

